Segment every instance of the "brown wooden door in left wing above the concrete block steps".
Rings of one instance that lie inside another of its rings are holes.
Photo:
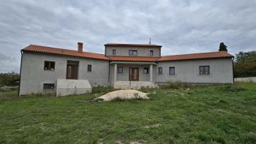
[[[67,79],[78,79],[78,61],[67,61]]]

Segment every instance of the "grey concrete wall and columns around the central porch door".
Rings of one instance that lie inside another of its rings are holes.
[[[138,67],[139,68],[139,80],[140,81],[150,81],[149,76],[149,64],[117,64],[117,67],[123,67],[123,73],[117,73],[117,81],[129,81],[129,67]],[[144,67],[148,67],[148,74],[144,74]],[[110,64],[110,82],[113,85],[113,75],[114,75],[114,64]],[[156,66],[153,66],[153,81],[156,79]]]

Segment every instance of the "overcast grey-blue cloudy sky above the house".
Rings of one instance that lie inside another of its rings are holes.
[[[0,0],[0,72],[20,50],[45,45],[104,53],[104,44],[162,45],[162,55],[256,50],[255,0]]]

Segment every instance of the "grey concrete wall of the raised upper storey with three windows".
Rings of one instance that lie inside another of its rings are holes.
[[[129,50],[138,50],[138,56],[150,56],[150,50],[154,51],[154,57],[160,56],[160,48],[138,47],[105,47],[106,56],[113,56],[112,50],[116,50],[116,56],[129,56]]]

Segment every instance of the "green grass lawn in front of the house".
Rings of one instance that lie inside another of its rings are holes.
[[[256,83],[143,91],[149,100],[0,93],[0,143],[256,143]]]

